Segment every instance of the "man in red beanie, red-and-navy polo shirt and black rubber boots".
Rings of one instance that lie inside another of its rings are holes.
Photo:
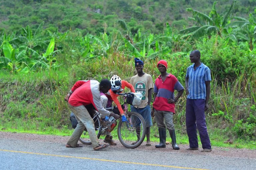
[[[161,75],[155,80],[154,86],[154,103],[151,112],[152,116],[155,116],[156,124],[159,131],[160,143],[155,145],[156,148],[166,147],[166,126],[169,130],[172,138],[172,148],[179,150],[179,146],[176,143],[176,136],[173,124],[173,114],[175,114],[175,103],[180,98],[184,91],[184,87],[180,84],[178,79],[167,73],[167,62],[160,60],[157,63],[157,68]],[[174,90],[178,91],[178,95],[174,98]],[[165,123],[164,123],[165,119]]]

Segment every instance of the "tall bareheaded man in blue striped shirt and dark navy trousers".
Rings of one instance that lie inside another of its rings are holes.
[[[185,85],[187,91],[186,127],[189,139],[188,150],[198,150],[197,130],[199,131],[203,152],[210,152],[211,142],[205,122],[205,111],[209,108],[210,69],[201,63],[201,53],[194,50],[190,53],[191,63],[187,69]]]

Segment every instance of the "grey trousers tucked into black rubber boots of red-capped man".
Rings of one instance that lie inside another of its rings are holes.
[[[166,128],[168,130],[173,130],[174,129],[174,124],[173,124],[173,113],[169,111],[159,111],[155,109],[155,120],[156,120],[156,125],[158,128]],[[165,121],[164,121],[165,119]],[[165,127],[166,125],[166,127]]]

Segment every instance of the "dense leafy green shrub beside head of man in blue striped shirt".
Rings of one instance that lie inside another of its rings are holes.
[[[243,70],[247,75],[256,68],[256,58],[251,52],[228,45],[224,38],[218,36],[200,42],[198,49],[201,61],[211,69],[219,83],[226,79],[234,81]]]

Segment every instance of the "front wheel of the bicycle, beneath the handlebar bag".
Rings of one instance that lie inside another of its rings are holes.
[[[121,144],[126,148],[136,148],[143,142],[146,135],[146,123],[137,112],[127,112],[129,123],[119,121],[117,135]]]

